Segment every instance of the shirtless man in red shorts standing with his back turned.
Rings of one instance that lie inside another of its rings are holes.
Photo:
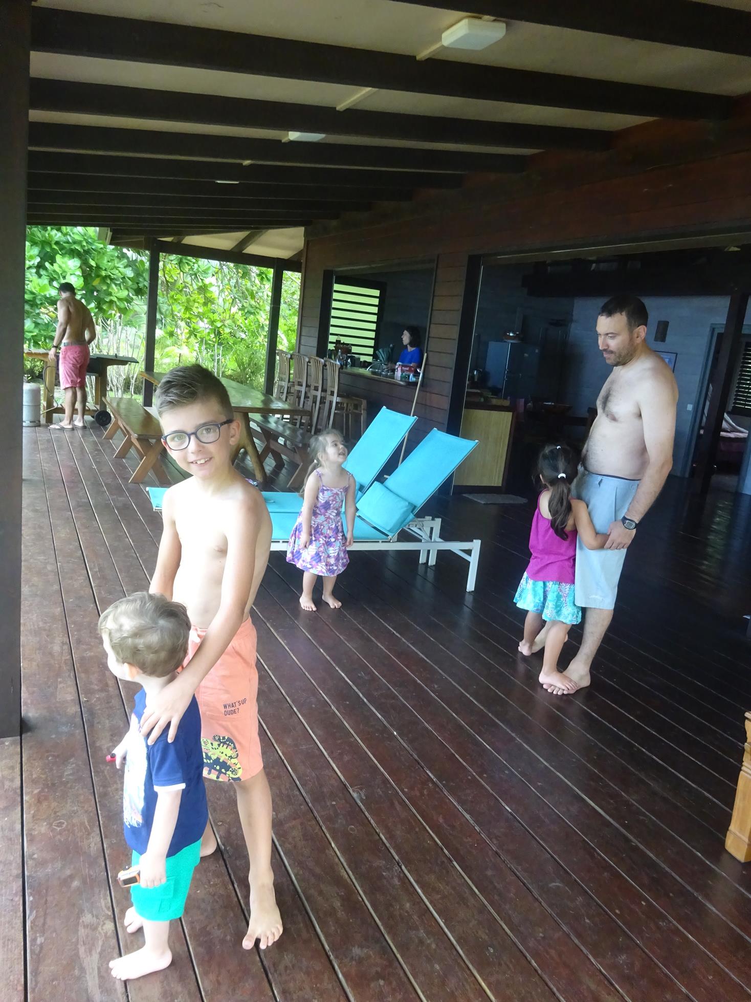
[[[49,360],[55,364],[57,346],[60,349],[60,386],[65,390],[65,416],[51,428],[84,428],[86,413],[86,370],[89,364],[89,345],[96,338],[96,328],[88,307],[76,299],[76,291],[69,282],[58,290],[57,330],[49,350]],[[73,422],[77,407],[78,419]]]

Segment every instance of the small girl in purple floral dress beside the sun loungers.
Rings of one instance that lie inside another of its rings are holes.
[[[287,563],[302,571],[303,609],[314,612],[312,590],[318,575],[323,578],[323,601],[338,609],[341,602],[333,597],[337,575],[349,563],[347,546],[354,531],[354,478],[343,469],[346,447],[337,431],[314,435],[310,440],[313,461],[302,490],[302,510],[294,523]],[[341,525],[341,507],[346,516],[346,538]]]

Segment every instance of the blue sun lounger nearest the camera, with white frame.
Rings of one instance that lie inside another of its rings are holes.
[[[350,550],[417,550],[420,562],[433,566],[439,551],[450,550],[470,564],[467,590],[475,590],[480,540],[441,538],[441,519],[417,512],[469,456],[477,442],[447,435],[434,428],[385,484],[370,484],[356,502],[354,544]],[[347,461],[347,467],[349,463]],[[298,511],[271,513],[271,549],[286,550]],[[401,532],[415,540],[400,540]]]

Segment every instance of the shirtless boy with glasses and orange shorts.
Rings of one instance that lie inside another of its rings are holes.
[[[150,591],[181,602],[191,622],[188,659],[141,717],[151,744],[174,739],[195,693],[203,777],[233,787],[249,861],[250,922],[242,940],[261,950],[281,935],[271,870],[271,794],[258,739],[258,672],[250,606],[271,545],[260,493],[232,467],[240,434],[219,380],[200,366],[173,369],[156,391],[162,442],[190,476],[162,502],[164,527]],[[210,823],[201,856],[216,849]],[[227,917],[229,921],[229,917]],[[132,931],[132,930],[131,930]]]

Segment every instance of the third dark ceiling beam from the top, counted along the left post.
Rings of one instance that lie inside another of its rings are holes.
[[[527,162],[526,156],[516,153],[355,146],[333,142],[281,142],[279,139],[248,139],[238,135],[110,128],[104,125],[60,125],[56,122],[29,122],[29,146],[72,152],[142,153],[303,166],[309,163],[331,167],[394,167],[398,170],[448,170],[457,173],[468,170],[514,173],[524,170]]]

